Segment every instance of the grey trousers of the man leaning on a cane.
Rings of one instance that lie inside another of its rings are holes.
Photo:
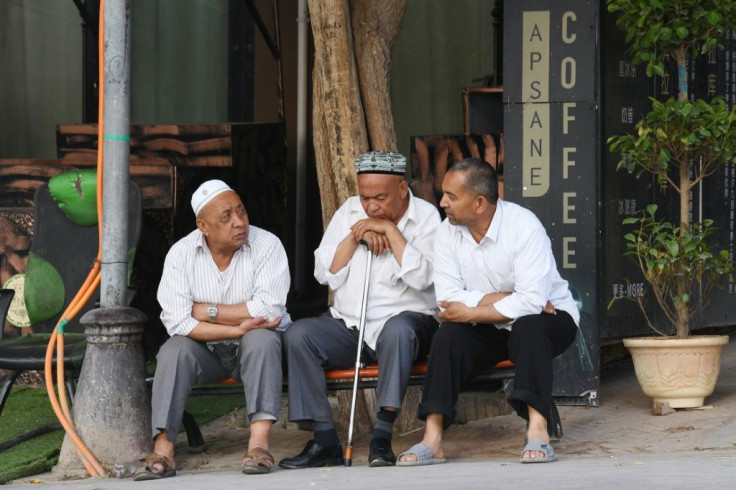
[[[378,362],[376,410],[401,408],[415,360],[429,352],[437,321],[430,315],[405,311],[391,317],[378,336],[376,350],[363,352]],[[355,366],[358,331],[349,330],[329,312],[295,322],[284,333],[289,368],[289,420],[331,422],[324,368]]]

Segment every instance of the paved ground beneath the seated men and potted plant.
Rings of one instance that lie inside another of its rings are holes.
[[[736,339],[724,351],[714,394],[701,410],[679,410],[653,416],[630,363],[604,371],[600,407],[559,407],[565,437],[555,444],[560,461],[521,465],[524,422],[515,415],[454,426],[446,433],[448,462],[422,468],[368,468],[368,436],[355,440],[352,468],[275,470],[270,475],[240,474],[248,430],[242,414],[222,417],[203,427],[210,446],[206,454],[187,455],[178,440],[179,475],[160,482],[136,483],[143,488],[693,488],[723,486],[736,475]],[[298,452],[310,434],[277,427],[272,452],[277,460]],[[421,439],[421,431],[397,435],[399,452]],[[129,480],[62,481],[58,474],[33,478],[46,488],[129,488]],[[31,478],[13,482],[26,485]],[[729,485],[730,486],[730,485]]]

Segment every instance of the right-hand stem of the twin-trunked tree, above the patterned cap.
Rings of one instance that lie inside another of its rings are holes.
[[[371,148],[396,151],[389,69],[391,48],[399,34],[406,0],[353,0],[351,7],[360,94]]]

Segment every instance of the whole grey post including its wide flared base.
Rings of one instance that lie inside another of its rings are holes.
[[[125,306],[130,173],[130,1],[105,4],[104,200],[101,304],[81,319],[87,351],[74,399],[79,436],[106,470],[151,451],[141,337],[146,317]],[[67,437],[57,469],[81,470]]]

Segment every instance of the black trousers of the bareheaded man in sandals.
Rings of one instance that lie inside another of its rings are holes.
[[[497,362],[514,363],[514,389],[509,404],[524,419],[527,405],[546,418],[551,413],[552,360],[575,340],[577,326],[572,317],[556,315],[521,317],[511,332],[495,325],[443,323],[434,336],[424,381],[419,418],[441,413],[445,429],[455,419],[460,387]]]

